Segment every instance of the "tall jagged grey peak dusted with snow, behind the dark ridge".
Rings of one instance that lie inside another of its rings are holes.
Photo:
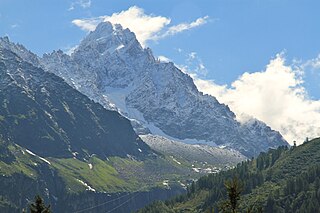
[[[6,38],[0,45],[120,112],[138,134],[227,147],[247,157],[288,145],[261,121],[238,122],[227,105],[198,91],[188,74],[172,62],[157,60],[133,32],[118,24],[100,23],[71,55],[58,50],[40,58]]]

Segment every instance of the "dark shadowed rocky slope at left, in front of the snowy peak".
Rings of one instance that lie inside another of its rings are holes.
[[[0,66],[0,133],[5,137],[50,157],[60,154],[60,157],[72,157],[74,153],[106,157],[112,155],[112,150],[117,155],[138,157],[142,152],[139,149],[150,152],[130,130],[132,127],[126,119],[92,102],[60,77],[33,67],[1,47]],[[110,121],[114,124],[110,125]],[[38,123],[41,127],[34,125]],[[122,132],[115,126],[122,127]],[[33,134],[34,129],[39,131]],[[117,145],[120,142],[127,145]],[[130,143],[136,144],[136,148]]]

